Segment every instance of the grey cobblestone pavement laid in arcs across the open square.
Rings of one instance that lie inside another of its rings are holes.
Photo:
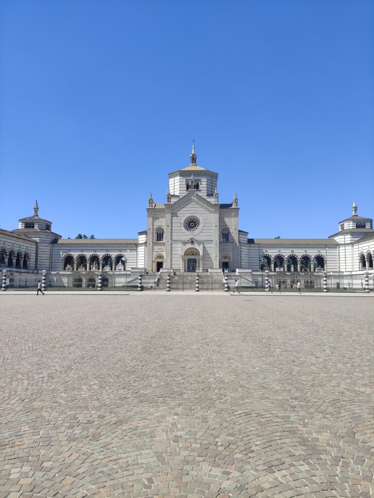
[[[0,307],[0,498],[373,496],[371,300]]]

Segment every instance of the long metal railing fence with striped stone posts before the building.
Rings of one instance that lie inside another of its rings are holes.
[[[226,273],[229,290],[233,291],[238,282],[241,292],[265,291],[266,273],[252,271],[248,273]],[[45,272],[46,290],[97,291],[99,289],[99,271],[52,271]],[[268,281],[272,291],[276,292],[280,284],[280,292],[295,292],[299,281],[303,292],[323,292],[323,273],[320,272],[268,272]],[[344,274],[328,272],[328,292],[365,292],[365,274]],[[7,271],[5,289],[36,290],[39,280],[43,281],[42,272]],[[101,273],[103,291],[137,291],[138,276],[130,272],[103,271]],[[199,290],[201,292],[223,292],[225,289],[222,273],[199,273]],[[374,292],[374,274],[369,275],[369,289]],[[166,291],[166,273],[147,273],[141,278],[141,290]],[[195,291],[196,273],[172,273],[170,275],[171,291]]]

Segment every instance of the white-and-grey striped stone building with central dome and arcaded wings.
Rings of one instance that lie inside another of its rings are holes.
[[[373,272],[372,218],[352,215],[321,239],[256,239],[241,230],[236,193],[219,198],[218,173],[190,164],[169,173],[165,202],[149,195],[145,230],[137,239],[62,239],[52,222],[39,216],[0,230],[0,267],[15,270],[106,270],[217,272],[229,270]],[[344,215],[343,215],[344,217]],[[244,228],[244,227],[241,227]]]

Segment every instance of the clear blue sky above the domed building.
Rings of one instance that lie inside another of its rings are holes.
[[[167,173],[219,173],[249,237],[374,217],[374,2],[2,0],[1,222],[136,237]]]

